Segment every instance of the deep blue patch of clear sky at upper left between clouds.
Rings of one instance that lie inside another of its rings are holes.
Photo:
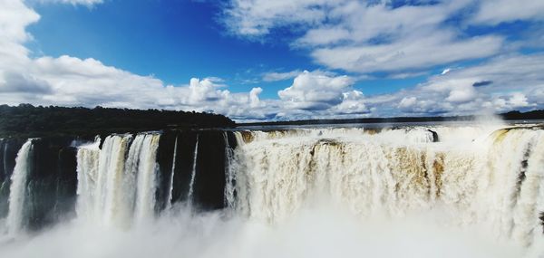
[[[235,82],[237,74],[241,80],[251,79],[253,72],[245,73],[291,71],[311,62],[285,44],[226,35],[216,21],[218,6],[209,3],[119,0],[92,8],[34,7],[42,16],[28,30],[34,35],[35,42],[29,44],[34,53],[92,57],[123,70],[154,74],[166,83],[181,84],[195,76]]]

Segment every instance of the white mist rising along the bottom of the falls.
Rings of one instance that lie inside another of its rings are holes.
[[[334,205],[307,207],[280,225],[186,206],[129,230],[82,221],[0,244],[1,257],[520,257],[520,247],[436,214],[362,221]]]

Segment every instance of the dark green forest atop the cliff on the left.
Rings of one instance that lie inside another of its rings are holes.
[[[206,129],[234,126],[225,116],[174,110],[128,110],[0,105],[0,138],[79,136],[159,129]]]

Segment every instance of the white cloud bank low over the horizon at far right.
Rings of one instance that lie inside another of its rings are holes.
[[[367,96],[364,101],[374,116],[531,110],[544,105],[541,71],[544,54],[500,56],[432,76],[410,90]]]

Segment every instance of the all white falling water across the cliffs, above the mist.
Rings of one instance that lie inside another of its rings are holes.
[[[276,227],[313,206],[332,203],[347,208],[358,222],[438,213],[444,225],[477,226],[500,241],[523,246],[525,254],[538,257],[544,252],[541,126],[213,133],[176,132],[175,138],[162,139],[160,133],[111,135],[102,145],[96,139],[79,146],[78,221],[108,229],[142,230],[164,217],[179,215],[169,212],[150,220],[160,209],[187,208],[173,202],[200,207],[205,206],[203,202],[224,200],[225,219],[241,217],[248,225]],[[236,139],[236,146],[230,141],[231,146],[229,137]],[[174,142],[162,146],[160,139]],[[32,170],[32,147],[32,140],[27,141],[16,158],[6,220],[10,234],[24,226],[25,191],[32,191],[25,183]],[[159,160],[168,161],[158,164]],[[210,172],[212,163],[219,165],[214,169],[224,169]],[[162,200],[166,205],[158,202]],[[199,217],[188,210],[189,216]],[[199,219],[209,221],[209,216]],[[177,220],[171,223],[178,225]],[[211,219],[210,226],[215,223]],[[179,230],[189,232],[196,224],[191,221]],[[241,231],[248,225],[242,225]],[[209,232],[208,226],[203,230]],[[252,238],[256,233],[249,234]]]

